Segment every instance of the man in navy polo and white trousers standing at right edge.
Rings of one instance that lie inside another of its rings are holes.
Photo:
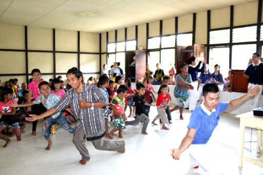
[[[254,100],[250,101],[250,109],[258,108],[260,97],[263,89],[263,63],[260,62],[260,54],[253,53],[252,64],[243,72],[243,76],[249,79],[248,88],[259,86],[260,91],[254,96]]]

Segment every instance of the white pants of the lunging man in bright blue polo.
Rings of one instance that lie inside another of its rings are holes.
[[[220,142],[210,142],[189,147],[191,166],[200,165],[205,174],[223,174],[230,162],[234,161],[237,152],[234,148]]]

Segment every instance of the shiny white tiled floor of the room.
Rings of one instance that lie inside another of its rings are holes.
[[[157,114],[156,107],[151,107],[150,114],[152,121]],[[204,174],[201,168],[190,167],[187,150],[179,161],[170,157],[170,149],[177,148],[187,132],[190,115],[191,113],[185,110],[184,120],[181,121],[179,111],[175,111],[172,113],[173,124],[167,125],[170,130],[149,124],[148,135],[140,133],[142,123],[138,126],[127,126],[127,129],[123,130],[123,139],[113,139],[126,142],[124,154],[96,150],[91,142],[86,142],[91,155],[86,166],[79,164],[81,155],[72,143],[72,134],[57,125],[58,131],[51,135],[53,146],[50,151],[46,151],[47,141],[41,132],[43,121],[37,124],[35,137],[31,136],[31,123],[27,123],[21,142],[17,142],[13,137],[7,148],[1,146],[0,174]],[[211,139],[226,143],[238,152],[239,119],[228,113],[221,113],[220,117]],[[110,123],[110,130],[112,128]],[[250,133],[251,129],[247,128],[245,141],[250,141]],[[252,141],[256,141],[256,130],[253,130]],[[5,142],[0,140],[0,145],[4,144]],[[249,148],[250,144],[246,143],[245,146]],[[255,158],[256,143],[252,143],[252,153],[246,149],[244,153]],[[245,161],[243,168],[239,168],[236,157],[227,174],[263,174],[263,168]]]

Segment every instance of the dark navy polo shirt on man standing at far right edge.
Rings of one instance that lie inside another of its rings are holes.
[[[263,85],[263,63],[251,63],[243,73],[249,75],[249,83]]]

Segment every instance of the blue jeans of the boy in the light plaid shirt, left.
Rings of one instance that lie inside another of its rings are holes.
[[[70,133],[74,133],[74,131],[75,131],[74,128],[70,127],[67,124],[65,116],[61,112],[61,114],[57,118],[52,119],[52,117],[50,116],[49,118],[47,118],[45,120],[45,122],[43,124],[43,128],[42,128],[42,133],[43,133],[46,140],[50,138],[49,129],[54,123],[57,123],[63,129],[65,129],[66,131],[69,131]]]

